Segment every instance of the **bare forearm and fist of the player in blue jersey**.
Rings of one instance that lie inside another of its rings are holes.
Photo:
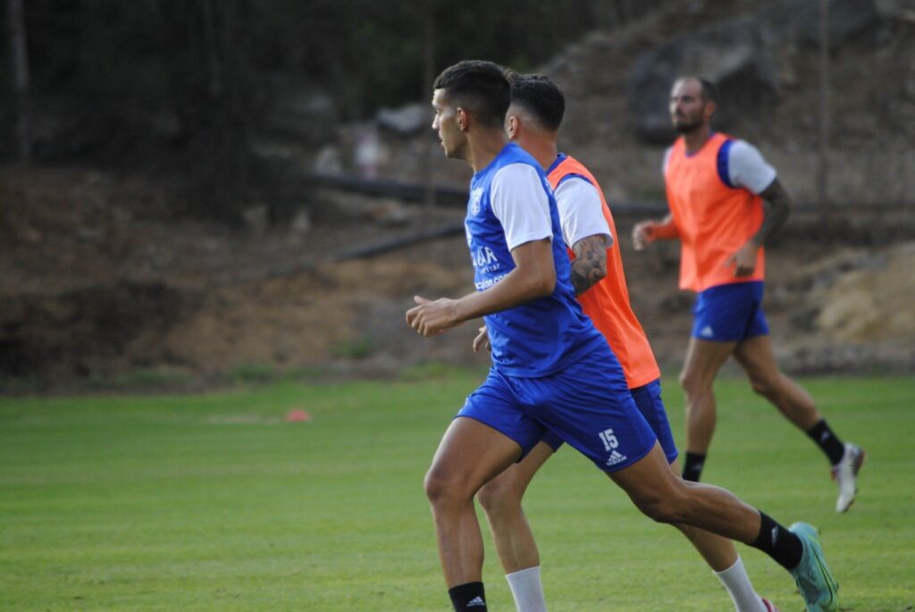
[[[471,318],[490,315],[553,293],[556,270],[548,238],[525,242],[511,251],[515,268],[485,291],[459,299],[435,301],[416,295],[418,306],[406,311],[407,325],[429,337],[446,332]]]

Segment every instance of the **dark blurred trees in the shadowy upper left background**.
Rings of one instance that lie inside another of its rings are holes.
[[[238,220],[262,180],[252,144],[272,84],[303,83],[343,120],[365,118],[425,95],[426,15],[433,72],[467,58],[530,70],[588,29],[663,2],[30,0],[33,155],[183,177],[186,210]],[[14,116],[10,103],[0,116]]]

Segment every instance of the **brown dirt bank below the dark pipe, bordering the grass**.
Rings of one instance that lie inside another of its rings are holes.
[[[150,210],[163,196],[152,184],[22,168],[6,169],[0,182],[8,203],[0,224],[6,378],[54,382],[162,369],[206,376],[251,365],[385,373],[425,361],[486,362],[469,349],[473,325],[423,340],[404,324],[413,295],[471,289],[462,237],[334,258],[459,223],[459,210],[347,198],[361,215],[231,232],[156,219]],[[632,222],[618,220],[632,302],[659,360],[675,368],[691,303],[676,289],[677,248],[633,252]],[[770,248],[766,298],[783,364],[915,370],[915,241],[812,241],[807,232],[823,226],[802,215],[790,227]]]

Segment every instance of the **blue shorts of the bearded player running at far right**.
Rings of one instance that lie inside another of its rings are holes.
[[[762,312],[762,281],[716,285],[696,295],[693,338],[712,342],[740,342],[769,333]]]

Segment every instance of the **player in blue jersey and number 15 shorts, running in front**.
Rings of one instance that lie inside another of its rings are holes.
[[[784,528],[725,489],[673,474],[632,401],[619,361],[582,313],[555,199],[537,161],[503,130],[501,67],[461,61],[434,84],[433,129],[474,170],[465,220],[477,291],[416,296],[407,323],[425,337],[484,317],[493,365],[447,428],[425,477],[448,595],[484,612],[483,542],[474,496],[548,431],[587,456],[654,521],[744,542],[791,572],[810,612],[837,610],[837,588],[812,526]]]

